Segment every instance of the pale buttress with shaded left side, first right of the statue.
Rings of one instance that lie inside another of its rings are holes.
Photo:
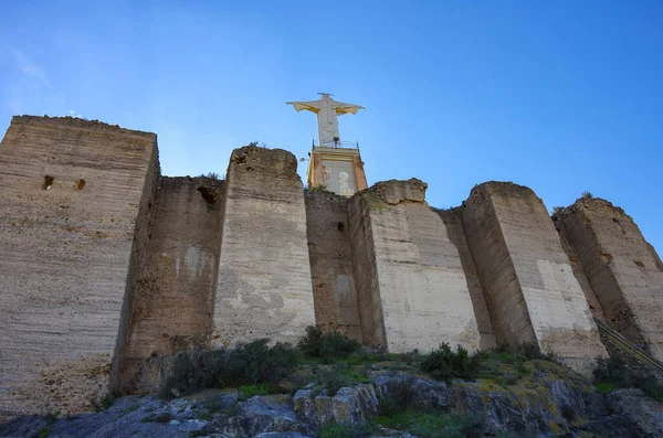
[[[350,200],[364,340],[390,352],[441,342],[473,351],[480,334],[459,250],[424,191],[419,180],[387,181]]]

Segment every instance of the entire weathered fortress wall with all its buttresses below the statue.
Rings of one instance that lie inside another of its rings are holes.
[[[663,264],[602,200],[552,218],[522,185],[456,209],[427,184],[304,191],[295,157],[244,147],[225,181],[159,175],[156,136],[14,117],[0,146],[0,419],[149,388],[187,345],[307,325],[404,352],[533,345],[588,373],[593,319],[663,360]]]

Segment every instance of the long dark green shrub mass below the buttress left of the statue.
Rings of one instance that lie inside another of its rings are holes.
[[[203,388],[274,386],[291,374],[302,354],[291,344],[269,346],[269,339],[238,343],[234,349],[182,351],[161,388],[165,398],[196,393]]]

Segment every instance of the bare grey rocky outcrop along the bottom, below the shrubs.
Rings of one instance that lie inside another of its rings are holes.
[[[375,371],[370,383],[329,395],[314,384],[287,395],[240,399],[238,393],[206,391],[164,402],[127,396],[98,414],[66,419],[22,417],[0,425],[0,437],[315,437],[330,424],[361,428],[380,403],[406,403],[428,413],[471,413],[484,418],[484,435],[527,437],[650,437],[663,434],[663,404],[639,391],[604,396],[577,374],[547,362],[534,364],[528,378],[513,384],[492,380],[453,381],[450,385],[402,371]],[[527,365],[529,366],[529,365]],[[407,397],[403,400],[402,397]],[[404,408],[403,408],[404,409]],[[373,426],[372,437],[407,432]]]

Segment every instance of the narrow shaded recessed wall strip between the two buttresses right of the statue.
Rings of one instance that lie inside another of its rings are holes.
[[[491,322],[491,314],[488,312],[483,288],[481,287],[481,280],[476,274],[474,259],[472,258],[470,247],[467,246],[467,239],[465,238],[465,231],[461,220],[461,207],[453,210],[433,209],[433,211],[440,215],[442,222],[444,222],[449,241],[456,247],[459,256],[461,257],[461,265],[463,266],[465,281],[467,282],[470,298],[472,298],[474,317],[476,318],[476,325],[481,338],[480,346],[482,350],[494,349],[497,346],[495,332],[493,331],[493,323]]]

